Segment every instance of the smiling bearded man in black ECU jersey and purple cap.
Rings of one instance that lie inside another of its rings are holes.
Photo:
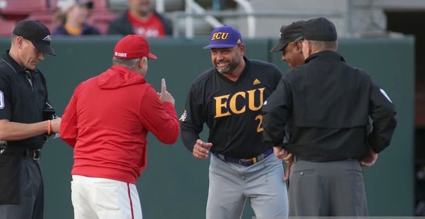
[[[262,141],[261,116],[282,73],[273,64],[248,60],[234,27],[214,29],[204,49],[211,50],[214,67],[193,81],[180,121],[182,141],[193,157],[212,153],[206,218],[241,218],[246,198],[257,217],[285,218],[282,162]],[[207,141],[199,139],[204,123]]]

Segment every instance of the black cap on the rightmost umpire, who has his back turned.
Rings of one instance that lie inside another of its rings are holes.
[[[302,36],[298,40],[335,41],[337,40],[337,30],[335,25],[324,17],[308,20],[302,27]]]

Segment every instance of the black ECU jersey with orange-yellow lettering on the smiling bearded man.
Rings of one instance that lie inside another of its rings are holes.
[[[234,158],[254,157],[271,147],[262,141],[263,102],[276,89],[282,73],[274,65],[247,60],[237,81],[215,68],[199,75],[191,86],[181,120],[184,145],[193,150],[204,123],[213,153]]]

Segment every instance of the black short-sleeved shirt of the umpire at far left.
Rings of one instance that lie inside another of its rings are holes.
[[[30,82],[31,81],[31,82]],[[0,60],[0,119],[16,123],[38,123],[47,100],[45,77],[40,70],[25,70],[8,52]],[[44,134],[8,141],[10,146],[41,149]]]

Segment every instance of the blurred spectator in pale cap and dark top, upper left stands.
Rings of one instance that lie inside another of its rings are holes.
[[[81,36],[101,34],[97,27],[86,24],[93,1],[66,0],[60,5],[60,25],[53,31],[54,36]]]

